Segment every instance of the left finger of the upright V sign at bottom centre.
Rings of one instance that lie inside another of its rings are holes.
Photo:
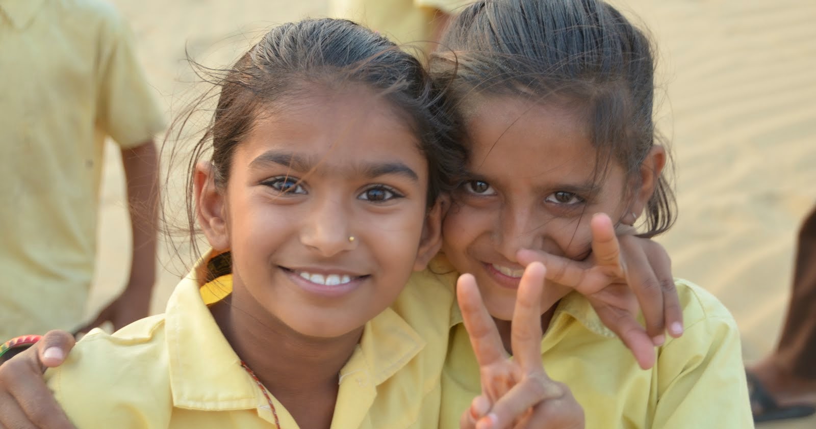
[[[487,366],[506,359],[502,338],[496,324],[487,312],[485,303],[476,284],[476,278],[470,274],[459,276],[456,281],[456,299],[462,310],[465,329],[480,366]]]

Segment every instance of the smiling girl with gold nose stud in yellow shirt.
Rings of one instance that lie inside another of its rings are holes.
[[[266,34],[195,151],[212,250],[164,315],[92,332],[46,374],[73,424],[436,426],[453,292],[409,277],[463,163],[448,122],[419,61],[357,24]]]

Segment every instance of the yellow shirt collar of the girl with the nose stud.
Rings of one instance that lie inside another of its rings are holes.
[[[174,405],[180,408],[253,409],[266,404],[209,308],[202,305],[215,303],[232,291],[231,274],[204,285],[198,280],[223,273],[228,265],[228,254],[224,255],[210,256],[206,264],[197,264],[167,303],[171,389]],[[424,346],[424,339],[389,307],[366,323],[357,349],[340,370],[339,384],[367,386],[375,395],[374,387],[405,366]]]

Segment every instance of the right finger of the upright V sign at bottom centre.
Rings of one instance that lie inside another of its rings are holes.
[[[526,372],[542,371],[541,294],[547,268],[534,262],[527,265],[518,285],[516,307],[512,313],[512,352]]]

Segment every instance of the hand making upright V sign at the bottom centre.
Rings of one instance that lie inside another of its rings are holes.
[[[462,415],[463,429],[583,429],[583,409],[541,363],[541,293],[546,268],[530,263],[512,316],[512,359],[481,300],[476,279],[459,276],[456,294],[481,374],[481,396]]]

